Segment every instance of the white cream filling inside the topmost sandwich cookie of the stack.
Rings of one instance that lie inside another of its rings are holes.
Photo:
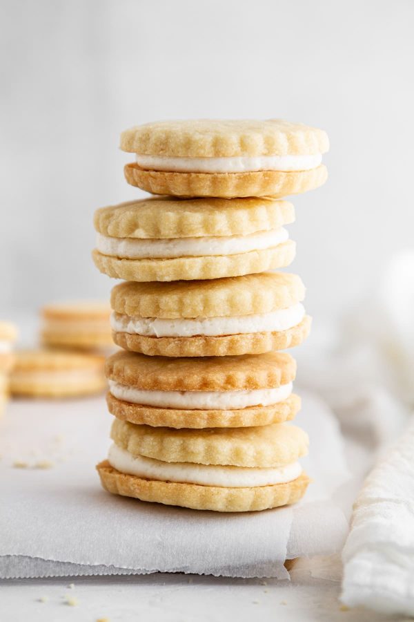
[[[142,169],[177,173],[244,173],[253,171],[309,171],[319,167],[322,154],[311,156],[258,156],[256,158],[169,158],[136,154]]]

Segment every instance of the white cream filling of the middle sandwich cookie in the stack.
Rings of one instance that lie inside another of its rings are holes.
[[[141,334],[145,337],[208,337],[248,332],[274,332],[297,326],[305,316],[305,308],[297,303],[286,309],[234,317],[195,317],[164,319],[157,317],[129,317],[112,312],[110,323],[116,332]]]

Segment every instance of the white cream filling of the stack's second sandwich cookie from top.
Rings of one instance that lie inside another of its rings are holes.
[[[270,229],[270,231],[260,231],[248,236],[169,238],[163,240],[111,238],[97,234],[97,249],[103,255],[126,259],[235,255],[277,246],[286,242],[288,237],[289,234],[283,227]]]

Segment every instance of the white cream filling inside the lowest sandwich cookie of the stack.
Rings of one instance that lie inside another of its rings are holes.
[[[285,484],[299,477],[302,466],[292,462],[275,467],[217,466],[193,462],[163,462],[142,455],[132,455],[117,444],[112,444],[108,453],[110,465],[128,475],[137,475],[148,480],[201,484],[229,488],[270,486]]]

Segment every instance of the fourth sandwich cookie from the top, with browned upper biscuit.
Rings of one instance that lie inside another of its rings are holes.
[[[106,360],[110,413],[133,424],[239,428],[293,419],[296,362],[286,352],[168,358],[117,352]]]

